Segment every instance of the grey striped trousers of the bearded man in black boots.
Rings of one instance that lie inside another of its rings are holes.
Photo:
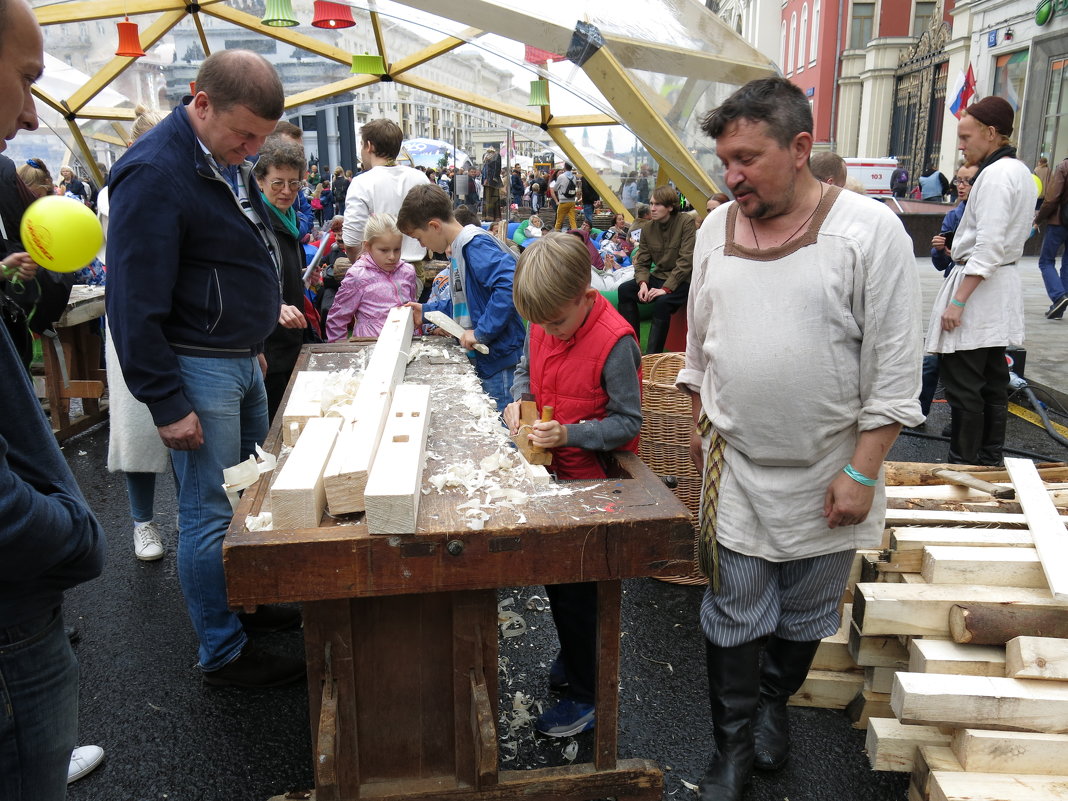
[[[718,546],[719,591],[705,591],[701,628],[720,647],[775,634],[822,640],[838,630],[838,601],[855,551],[769,562]]]

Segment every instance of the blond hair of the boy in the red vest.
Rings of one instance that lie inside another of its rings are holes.
[[[531,323],[547,323],[590,288],[590,251],[577,236],[551,233],[519,256],[512,296]]]

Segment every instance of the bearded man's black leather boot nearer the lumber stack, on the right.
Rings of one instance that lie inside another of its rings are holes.
[[[804,684],[818,647],[819,640],[799,643],[772,637],[764,649],[760,702],[753,724],[757,770],[779,770],[786,764],[790,753],[786,702]]]

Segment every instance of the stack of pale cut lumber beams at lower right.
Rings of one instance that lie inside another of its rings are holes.
[[[911,772],[910,801],[1068,801],[1068,467],[963,468],[1003,501],[934,467],[888,466],[885,548],[852,592],[871,766]]]

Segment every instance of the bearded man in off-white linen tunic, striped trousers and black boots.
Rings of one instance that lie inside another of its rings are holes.
[[[703,127],[736,201],[698,232],[678,375],[710,423],[703,508],[717,498],[710,801],[785,763],[786,700],[838,626],[853,551],[880,541],[886,450],[923,417],[911,241],[882,204],[812,175],[801,91],[753,81]]]

